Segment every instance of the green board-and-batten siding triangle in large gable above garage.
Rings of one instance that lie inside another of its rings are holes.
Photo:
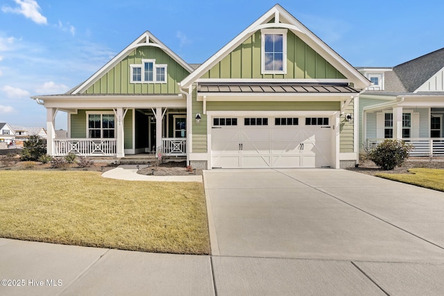
[[[345,76],[291,31],[287,33],[287,74],[262,74],[261,33],[257,31],[201,78],[343,79]]]

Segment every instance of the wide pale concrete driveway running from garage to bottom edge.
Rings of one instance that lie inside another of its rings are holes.
[[[444,294],[444,193],[325,169],[204,180],[221,295]]]

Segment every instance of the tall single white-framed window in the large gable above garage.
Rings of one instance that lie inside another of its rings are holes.
[[[262,74],[287,73],[287,30],[262,30]]]

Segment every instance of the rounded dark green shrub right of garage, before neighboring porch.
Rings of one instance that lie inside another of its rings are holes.
[[[412,146],[402,140],[386,139],[370,150],[369,158],[385,171],[391,171],[396,166],[402,166],[409,158]]]

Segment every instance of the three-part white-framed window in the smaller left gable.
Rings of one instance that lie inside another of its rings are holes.
[[[167,64],[155,60],[142,60],[142,64],[130,64],[131,83],[167,83]]]

